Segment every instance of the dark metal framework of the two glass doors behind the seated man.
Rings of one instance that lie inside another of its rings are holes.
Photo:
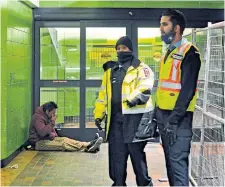
[[[41,28],[80,28],[80,80],[41,80],[40,79],[40,29]],[[86,28],[87,27],[126,27],[126,35],[131,37],[131,21],[34,21],[34,64],[33,64],[33,113],[40,105],[40,88],[80,88],[80,126],[61,128],[60,136],[89,141],[94,138],[97,128],[86,128],[86,88],[100,88],[101,80],[86,79]],[[132,38],[132,37],[131,37]],[[116,51],[115,51],[116,52]],[[104,136],[104,132],[101,133]]]

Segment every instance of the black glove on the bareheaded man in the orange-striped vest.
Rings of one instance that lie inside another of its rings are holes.
[[[168,140],[169,145],[173,145],[177,139],[177,125],[167,123],[164,131],[166,133],[166,139]]]

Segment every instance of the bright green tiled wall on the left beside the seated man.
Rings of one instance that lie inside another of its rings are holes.
[[[1,159],[28,136],[31,118],[32,10],[1,0]],[[4,21],[3,21],[4,20]]]

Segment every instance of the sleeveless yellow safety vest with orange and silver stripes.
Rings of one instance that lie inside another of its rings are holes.
[[[160,109],[173,110],[181,90],[181,63],[191,47],[190,42],[184,42],[175,48],[164,63],[164,56],[160,61],[159,81],[156,92],[156,105]],[[196,47],[195,47],[196,48]],[[198,51],[198,49],[196,48]],[[187,111],[194,111],[197,99],[197,89]]]

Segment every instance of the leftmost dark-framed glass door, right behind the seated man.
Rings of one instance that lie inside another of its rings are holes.
[[[34,109],[56,102],[58,134],[75,139],[82,130],[80,33],[80,22],[35,22]]]

